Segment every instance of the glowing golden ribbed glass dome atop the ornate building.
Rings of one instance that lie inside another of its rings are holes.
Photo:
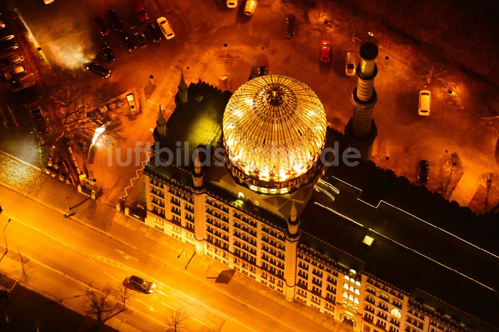
[[[326,115],[306,84],[284,75],[264,75],[232,95],[223,131],[234,166],[260,182],[283,182],[305,174],[319,158]]]

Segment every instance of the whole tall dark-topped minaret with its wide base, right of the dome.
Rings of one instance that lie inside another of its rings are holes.
[[[350,146],[360,151],[363,161],[371,159],[372,144],[378,130],[373,120],[376,104],[374,78],[378,73],[374,59],[378,56],[378,45],[374,38],[363,41],[360,46],[360,63],[357,65],[357,86],[353,89],[353,117],[345,127]]]

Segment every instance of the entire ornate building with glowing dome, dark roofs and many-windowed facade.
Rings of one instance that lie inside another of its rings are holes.
[[[497,331],[497,254],[333,176],[308,86],[181,85],[144,171],[147,225],[354,331]]]

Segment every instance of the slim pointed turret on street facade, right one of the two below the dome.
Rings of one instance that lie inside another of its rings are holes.
[[[285,295],[286,300],[292,302],[294,300],[294,287],[296,284],[296,245],[300,238],[301,231],[299,229],[300,219],[298,211],[294,204],[291,205],[289,218],[287,219],[286,235],[286,253],[285,253],[285,271],[284,279],[286,280]]]

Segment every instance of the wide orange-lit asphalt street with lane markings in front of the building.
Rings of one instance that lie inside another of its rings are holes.
[[[169,311],[178,307],[186,308],[191,314],[189,326],[192,331],[218,331],[220,328],[222,331],[267,331],[269,327],[273,331],[303,331],[318,324],[310,320],[305,323],[303,319],[296,321],[300,315],[314,312],[313,309],[295,303],[290,304],[290,310],[282,305],[272,305],[271,298],[254,293],[258,287],[264,288],[257,283],[250,281],[249,289],[240,290],[243,298],[232,296],[221,292],[213,285],[212,279],[207,279],[213,273],[218,274],[216,270],[206,272],[201,269],[200,276],[186,273],[183,257],[179,258],[178,252],[171,252],[166,261],[163,259],[160,262],[152,257],[157,253],[146,252],[141,248],[140,243],[144,239],[126,239],[132,243],[127,245],[66,219],[4,187],[0,187],[0,197],[4,207],[0,225],[11,219],[5,229],[9,253],[13,251],[14,256],[20,253],[29,258],[25,264],[26,272],[21,278],[24,282],[33,283],[33,288],[44,290],[52,298],[71,299],[75,294],[84,294],[91,285],[94,290],[109,290],[116,300],[119,299],[119,285],[125,278],[139,275],[157,285],[154,293],[137,293],[128,300],[127,307],[133,314],[127,320],[129,324],[132,324],[132,318],[142,322],[139,329],[143,331],[155,331],[154,328],[146,328],[147,322],[151,322],[155,328],[164,327]],[[186,262],[193,255],[193,249],[189,248],[186,248]],[[6,269],[5,264],[6,261],[1,262],[2,271]],[[199,265],[200,262],[195,258],[189,264]],[[9,268],[8,271],[20,273],[19,266],[20,262],[17,262],[17,267]],[[40,266],[50,271],[40,272]],[[50,275],[54,272],[62,281],[53,281],[56,278]],[[284,301],[272,291],[265,292],[271,292],[271,296]],[[270,306],[276,312],[263,311],[260,306]],[[85,309],[88,308],[80,308]],[[300,314],[295,313],[293,316],[294,311]],[[327,320],[327,317],[322,319]],[[331,321],[329,324],[334,323]],[[340,325],[335,326],[336,331],[344,330]]]

